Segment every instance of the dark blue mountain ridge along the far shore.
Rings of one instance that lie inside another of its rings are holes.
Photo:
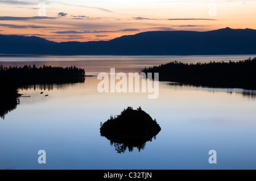
[[[0,35],[2,54],[54,55],[209,55],[256,54],[256,30],[223,28],[148,31],[109,41],[56,43],[37,36]]]

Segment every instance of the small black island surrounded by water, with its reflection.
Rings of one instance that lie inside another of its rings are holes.
[[[160,132],[161,128],[156,120],[152,120],[148,113],[141,107],[133,110],[132,107],[124,109],[117,117],[110,116],[110,119],[102,124],[101,136],[110,140],[118,153],[124,153],[126,148],[133,151],[137,147],[140,151],[144,149],[147,141]]]

